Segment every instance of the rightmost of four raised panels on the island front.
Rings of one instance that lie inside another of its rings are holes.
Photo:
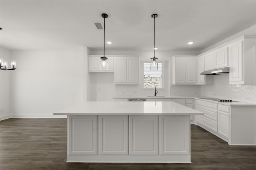
[[[189,115],[159,116],[159,154],[189,154]]]

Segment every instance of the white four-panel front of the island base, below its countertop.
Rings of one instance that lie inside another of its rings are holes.
[[[189,115],[68,115],[67,162],[191,163]]]

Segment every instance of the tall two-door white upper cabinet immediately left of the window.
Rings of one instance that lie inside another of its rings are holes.
[[[139,57],[116,57],[114,68],[115,84],[139,83]]]

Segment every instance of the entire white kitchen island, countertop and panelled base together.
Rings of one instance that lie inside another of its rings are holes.
[[[67,162],[191,163],[190,115],[174,102],[84,102],[67,115]]]

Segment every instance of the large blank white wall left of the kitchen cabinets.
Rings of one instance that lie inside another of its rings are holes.
[[[12,117],[58,117],[52,113],[83,102],[82,49],[12,51],[12,59]]]

